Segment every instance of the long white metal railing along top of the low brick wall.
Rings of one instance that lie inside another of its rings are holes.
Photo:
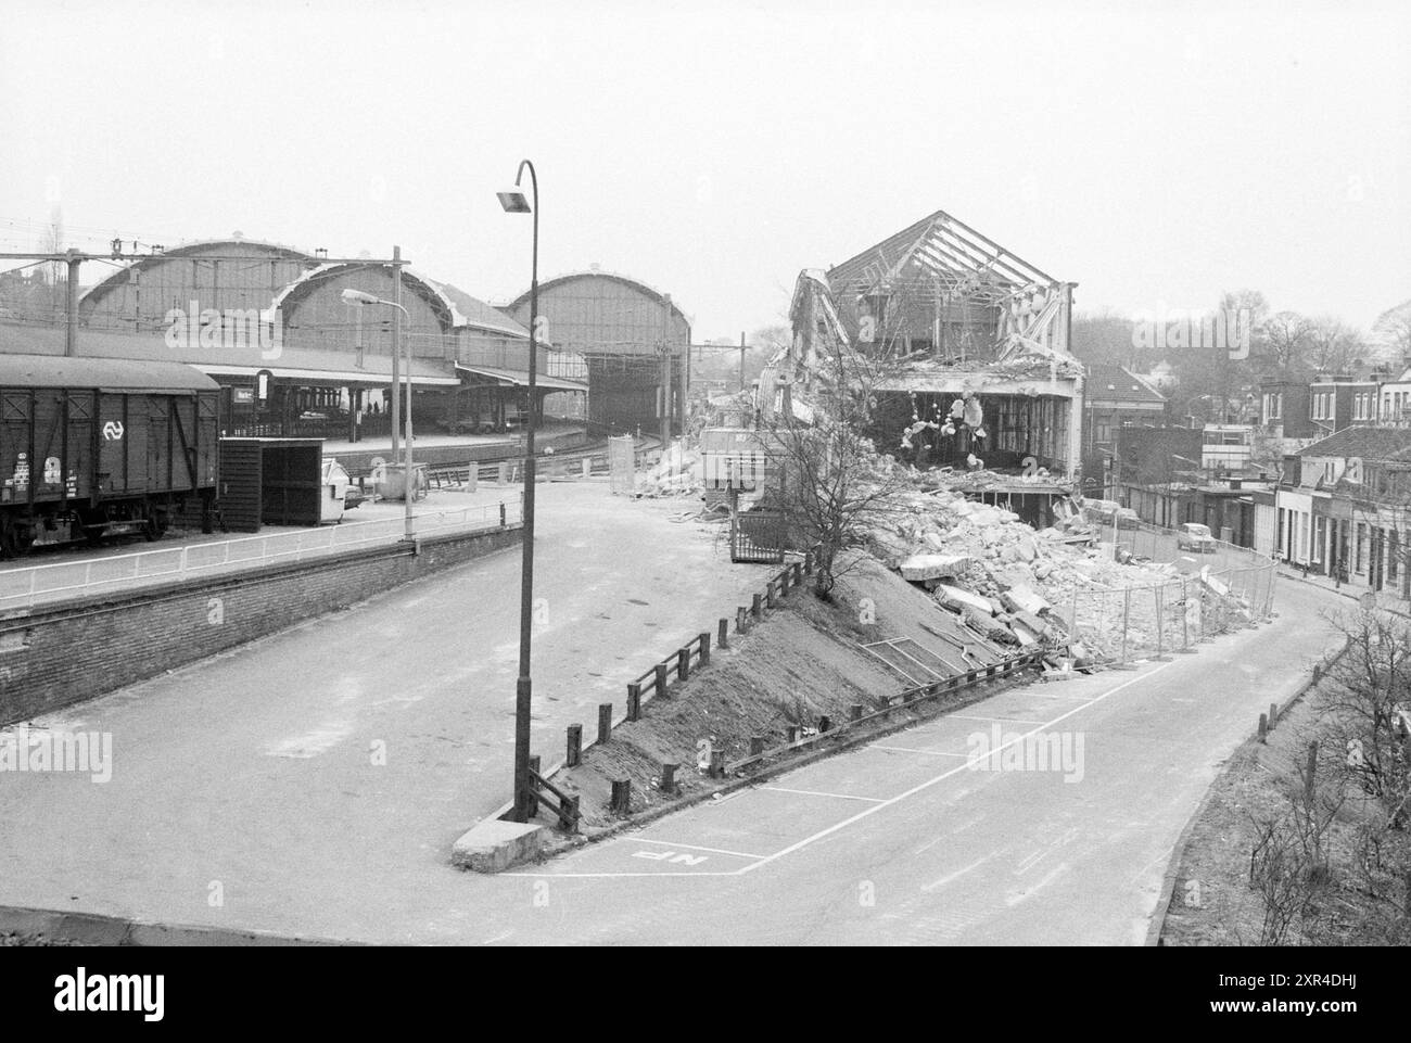
[[[484,532],[518,525],[522,507],[509,502],[422,511],[412,529],[419,539]],[[404,518],[344,522],[296,532],[271,532],[209,542],[181,543],[107,557],[54,562],[0,570],[0,611],[87,598],[190,577],[219,576],[268,565],[303,562],[358,548],[391,546],[405,536]]]

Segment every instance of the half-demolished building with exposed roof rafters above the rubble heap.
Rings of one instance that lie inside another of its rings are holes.
[[[879,447],[923,469],[1072,483],[1082,450],[1082,366],[1068,350],[1075,285],[937,210],[799,275],[780,373],[807,394],[834,353],[865,356]]]

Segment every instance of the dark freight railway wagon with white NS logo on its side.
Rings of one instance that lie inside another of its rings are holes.
[[[219,385],[179,363],[0,353],[0,556],[140,532],[216,495]]]

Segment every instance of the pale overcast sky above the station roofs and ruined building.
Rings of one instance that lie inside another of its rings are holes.
[[[600,264],[697,342],[937,209],[1079,309],[1411,298],[1411,4],[0,0],[0,250],[226,236],[487,299]],[[89,265],[85,282],[107,271]]]

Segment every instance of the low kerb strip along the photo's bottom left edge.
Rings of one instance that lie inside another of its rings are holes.
[[[358,941],[229,930],[182,923],[152,923],[100,913],[0,906],[0,934],[32,934],[73,946],[360,946]]]

